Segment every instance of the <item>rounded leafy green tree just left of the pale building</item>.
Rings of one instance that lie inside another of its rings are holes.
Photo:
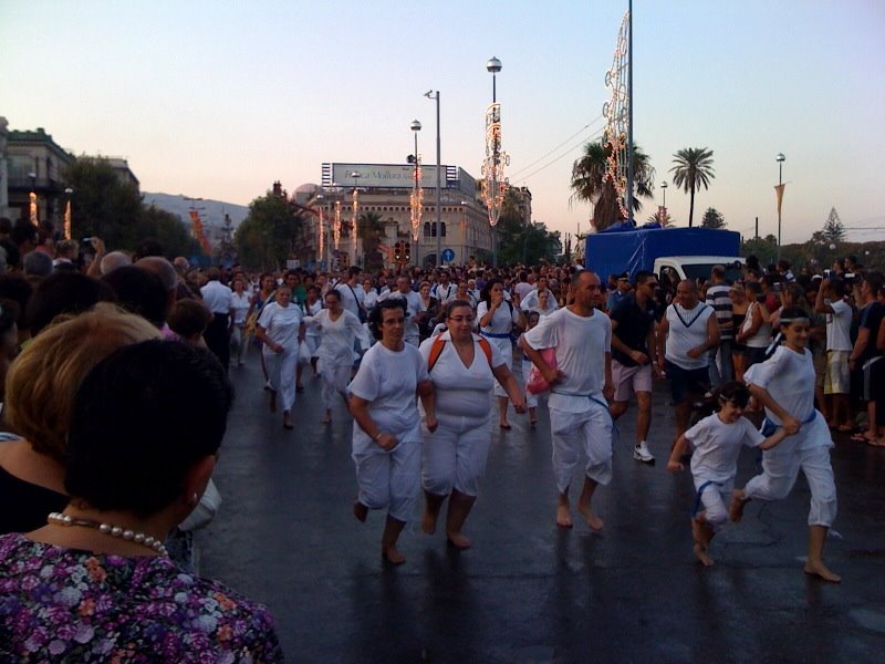
[[[284,191],[256,198],[233,238],[240,262],[251,269],[279,270],[292,256],[301,227],[301,212]]]

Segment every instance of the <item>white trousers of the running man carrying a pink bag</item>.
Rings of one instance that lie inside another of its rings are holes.
[[[612,416],[602,404],[587,402],[590,406],[583,413],[550,408],[553,475],[560,494],[572,484],[582,449],[587,457],[586,477],[603,486],[612,481]]]

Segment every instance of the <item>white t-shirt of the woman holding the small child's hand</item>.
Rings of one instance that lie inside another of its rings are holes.
[[[785,345],[778,346],[769,360],[748,369],[743,380],[767,390],[799,422],[808,421],[814,412],[814,361],[809,350],[800,355]],[[766,415],[774,424],[781,424],[768,408]]]

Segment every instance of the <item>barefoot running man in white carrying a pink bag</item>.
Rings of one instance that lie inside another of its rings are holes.
[[[612,383],[612,323],[596,305],[602,297],[600,278],[581,272],[571,284],[573,303],[542,318],[520,336],[519,345],[551,385],[550,429],[553,473],[556,477],[556,525],[572,527],[569,487],[583,449],[587,463],[577,511],[591,530],[603,521],[591,508],[598,485],[612,479],[612,417],[605,400],[614,395]],[[555,367],[542,350],[554,349]]]

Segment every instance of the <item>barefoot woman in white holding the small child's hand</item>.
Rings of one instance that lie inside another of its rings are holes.
[[[814,409],[814,361],[805,347],[809,329],[810,321],[803,310],[784,309],[781,332],[787,343],[767,362],[751,366],[743,376],[750,393],[766,407],[762,433],[783,426],[790,437],[762,454],[762,474],[735,491],[730,511],[731,520],[739,521],[748,500],[785,498],[801,469],[811,490],[809,557],[804,571],[837,583],[840,577],[823,563],[826,532],[836,517],[836,487],[830,465],[833,439],[823,415]]]

